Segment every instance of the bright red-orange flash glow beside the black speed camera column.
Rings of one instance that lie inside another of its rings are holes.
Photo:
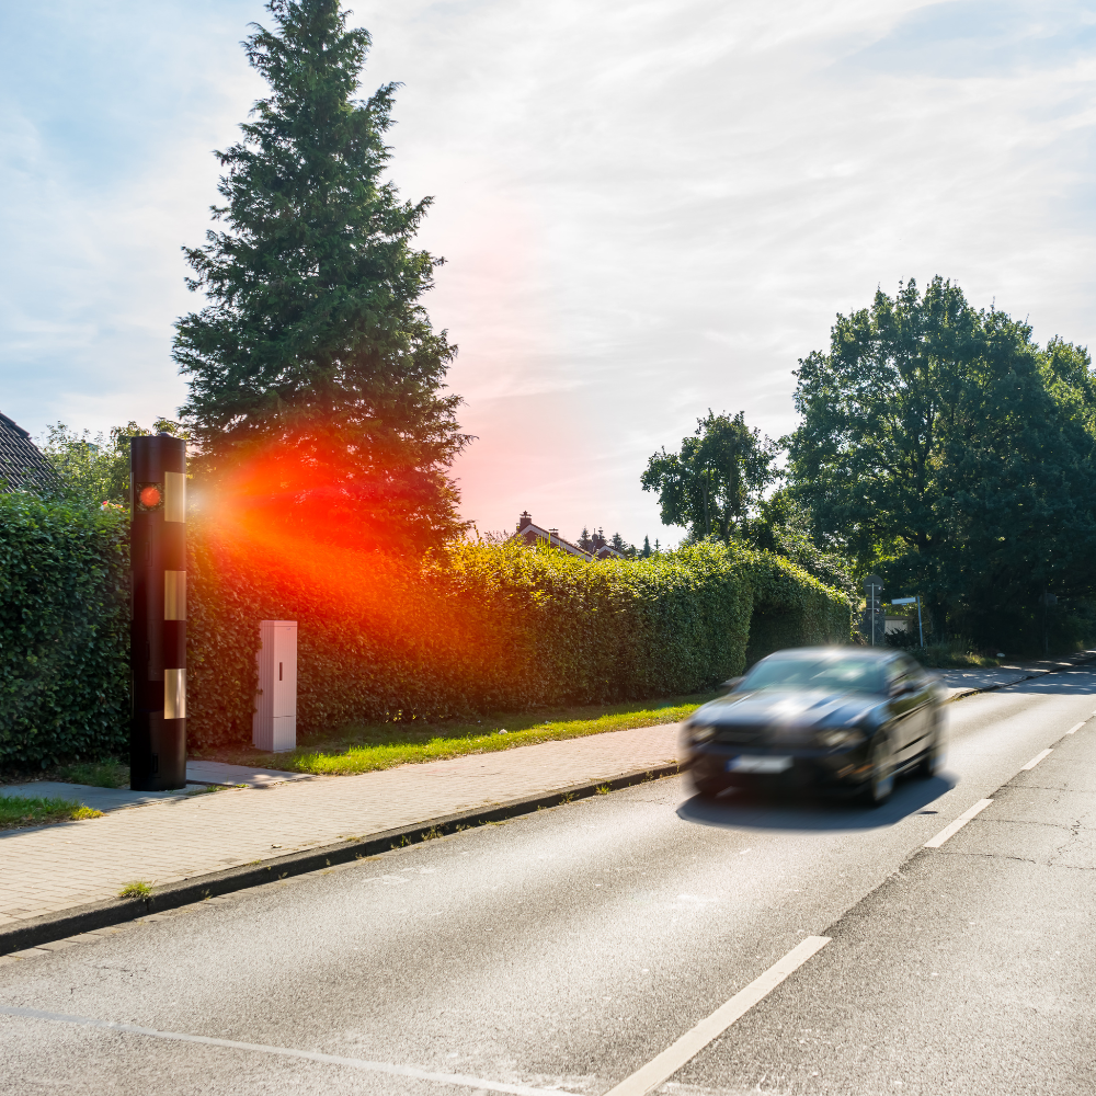
[[[259,619],[298,620],[301,681],[318,696],[336,673],[362,675],[368,703],[392,710],[444,715],[461,695],[504,693],[528,657],[507,618],[529,605],[498,591],[470,548],[430,535],[427,487],[414,469],[366,477],[315,452],[238,459],[202,484],[199,596],[253,606],[256,639]]]

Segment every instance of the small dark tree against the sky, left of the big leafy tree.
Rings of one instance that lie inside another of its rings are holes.
[[[655,453],[641,483],[657,491],[663,525],[688,528],[693,541],[738,536],[777,473],[778,445],[746,426],[745,415],[713,414],[697,420],[680,453]]]

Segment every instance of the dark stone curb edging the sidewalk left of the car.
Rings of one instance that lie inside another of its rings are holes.
[[[68,936],[77,936],[80,933],[93,933],[96,928],[110,928],[113,925],[148,916],[151,913],[175,910],[181,905],[190,905],[193,902],[202,902],[205,899],[229,894],[232,891],[259,887],[262,883],[285,879],[287,876],[305,875],[308,871],[329,868],[335,864],[346,864],[350,860],[378,856],[392,848],[418,845],[433,837],[457,833],[458,830],[530,814],[540,808],[559,807],[574,799],[589,799],[596,795],[598,788],[608,787],[612,791],[618,791],[637,784],[659,780],[665,776],[676,776],[680,772],[681,766],[677,764],[637,769],[609,780],[575,784],[539,796],[511,799],[494,807],[463,811],[459,814],[444,814],[439,818],[416,822],[411,826],[370,833],[364,837],[352,837],[333,845],[322,845],[319,848],[309,848],[300,853],[288,853],[285,856],[263,860],[261,865],[240,865],[235,868],[226,868],[224,871],[213,871],[190,879],[181,879],[157,889],[145,899],[128,901],[110,899],[104,902],[90,902],[87,905],[72,906],[59,913],[44,914],[41,917],[28,917],[23,923],[0,928],[0,955],[22,951],[24,948],[49,944]]]

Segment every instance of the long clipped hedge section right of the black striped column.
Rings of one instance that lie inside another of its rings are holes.
[[[847,642],[844,596],[787,560],[705,544],[585,563],[456,544],[409,567],[332,552],[301,581],[254,546],[192,553],[190,734],[248,741],[259,621],[298,621],[298,730],[710,688],[780,647]]]

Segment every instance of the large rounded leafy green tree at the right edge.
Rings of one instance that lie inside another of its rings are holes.
[[[961,289],[911,281],[838,316],[799,363],[792,494],[813,534],[922,592],[938,633],[1023,629],[1094,592],[1096,386],[1087,353]]]

